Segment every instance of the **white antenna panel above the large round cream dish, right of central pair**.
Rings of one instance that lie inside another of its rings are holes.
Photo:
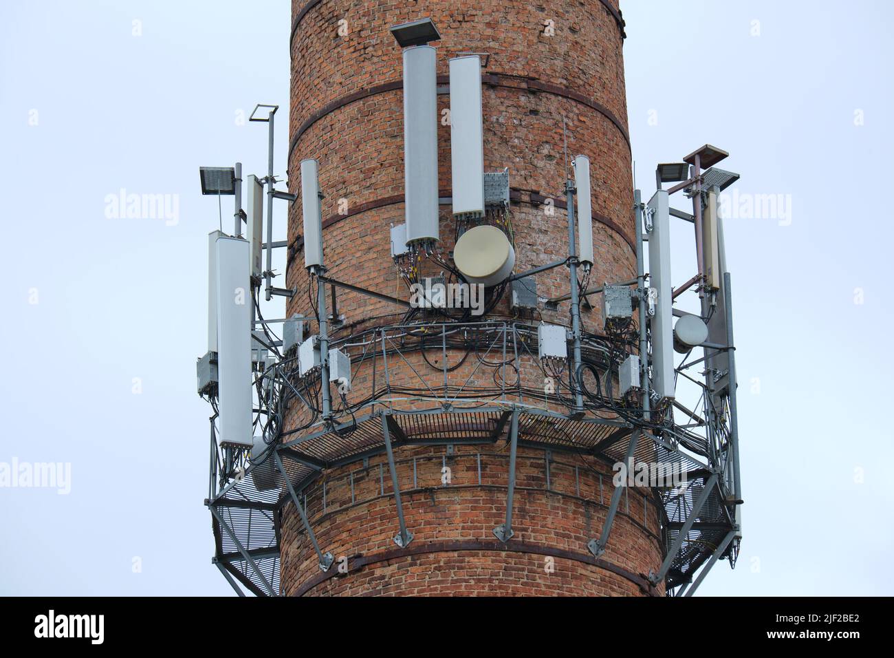
[[[453,214],[485,213],[485,150],[481,120],[481,58],[450,61],[450,145]]]

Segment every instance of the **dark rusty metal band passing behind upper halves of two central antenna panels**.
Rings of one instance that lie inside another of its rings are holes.
[[[503,78],[518,80],[519,84],[510,84],[508,81],[502,81]],[[624,128],[624,124],[621,124],[620,120],[617,116],[613,115],[611,111],[603,106],[601,103],[597,103],[595,100],[591,100],[590,98],[586,98],[583,94],[578,94],[578,92],[569,90],[566,87],[562,87],[558,84],[552,84],[552,82],[542,82],[538,81],[535,78],[522,77],[518,75],[509,75],[504,73],[486,73],[481,76],[482,81],[490,85],[491,87],[502,87],[503,89],[510,90],[527,90],[527,91],[538,91],[545,94],[552,94],[554,96],[559,96],[561,98],[568,98],[569,100],[577,101],[589,107],[590,109],[595,110],[599,114],[603,115],[606,119],[611,121],[614,124],[615,128],[618,129],[621,136],[624,138],[624,141],[627,142],[628,150],[630,150],[630,135],[627,132],[627,129]],[[443,89],[438,91],[439,94],[447,94],[450,93],[450,85],[448,82],[450,81],[448,76],[439,75],[438,76],[438,84],[442,85]],[[366,90],[359,90],[353,93],[347,94],[346,96],[342,96],[342,98],[336,98],[330,103],[327,103],[324,107],[317,110],[315,113],[310,115],[308,119],[301,124],[298,131],[292,135],[291,143],[289,144],[289,159],[291,160],[292,151],[295,150],[295,147],[298,146],[298,141],[301,139],[301,135],[305,132],[308,132],[308,129],[316,124],[317,121],[322,119],[325,115],[331,115],[333,112],[341,109],[342,107],[349,106],[351,103],[356,103],[358,100],[363,100],[364,98],[370,98],[372,96],[376,96],[377,94],[384,94],[388,91],[396,91],[403,90],[403,81],[395,80],[391,82],[384,82],[383,84],[377,84],[375,87],[370,87]]]

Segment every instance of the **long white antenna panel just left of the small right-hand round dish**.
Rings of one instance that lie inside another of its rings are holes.
[[[671,287],[671,214],[668,192],[655,192],[647,210],[649,232],[649,286],[657,289],[652,329],[652,385],[660,397],[674,397],[673,295]]]

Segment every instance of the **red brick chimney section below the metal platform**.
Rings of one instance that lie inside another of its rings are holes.
[[[649,569],[661,565],[658,509],[647,489],[631,488],[621,499],[603,561],[587,551],[612,492],[611,467],[592,458],[553,451],[547,490],[546,453],[519,448],[508,546],[493,536],[506,515],[504,441],[456,446],[452,455],[444,447],[400,449],[395,459],[414,535],[408,550],[393,543],[400,526],[384,457],[332,469],[301,501],[321,549],[347,558],[348,573],[336,563],[321,574],[290,503],[283,509],[284,594],[640,595]]]

